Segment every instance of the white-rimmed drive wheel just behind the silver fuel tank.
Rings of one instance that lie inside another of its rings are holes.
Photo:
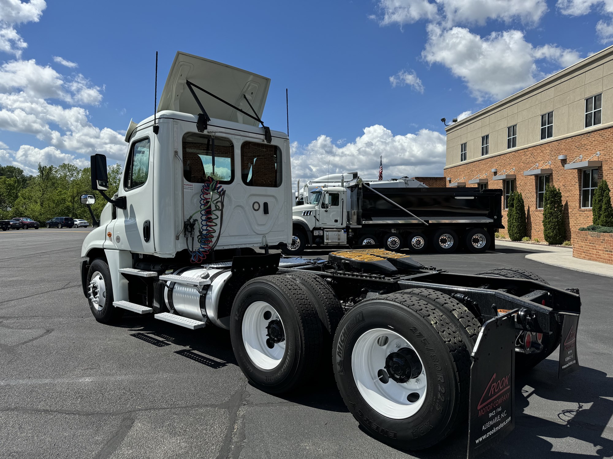
[[[238,366],[266,392],[287,392],[316,377],[322,326],[311,296],[285,275],[249,280],[230,314],[230,339]]]

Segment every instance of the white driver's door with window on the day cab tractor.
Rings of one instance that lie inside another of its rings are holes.
[[[116,209],[112,242],[120,250],[154,253],[153,245],[153,141],[137,136],[130,144],[128,158],[117,194],[126,196],[126,209]]]

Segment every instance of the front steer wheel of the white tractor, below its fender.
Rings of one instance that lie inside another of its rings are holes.
[[[86,285],[89,309],[98,322],[113,323],[123,315],[123,309],[113,306],[111,273],[104,259],[96,258],[89,265]]]

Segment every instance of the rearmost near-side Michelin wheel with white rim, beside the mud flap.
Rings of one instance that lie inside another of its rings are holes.
[[[351,308],[333,362],[349,411],[394,447],[432,446],[466,419],[470,354],[457,327],[424,299],[393,293]]]

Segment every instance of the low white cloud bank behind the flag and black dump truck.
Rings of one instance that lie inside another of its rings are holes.
[[[364,129],[364,135],[339,147],[326,135],[307,145],[292,143],[294,181],[330,173],[359,171],[362,177],[378,176],[383,155],[384,177],[440,176],[445,163],[445,136],[422,129],[416,134],[393,135],[381,125]]]

